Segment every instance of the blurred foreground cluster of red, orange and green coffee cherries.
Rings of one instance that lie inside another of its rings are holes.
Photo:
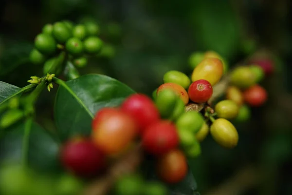
[[[195,123],[193,118],[197,118]],[[106,170],[108,159],[141,143],[144,152],[156,159],[157,176],[177,183],[187,173],[186,156],[201,153],[195,138],[201,129],[199,136],[203,137],[206,128],[201,114],[184,112],[184,102],[173,90],[162,90],[155,101],[134,94],[119,107],[100,109],[92,120],[91,137],[69,140],[63,146],[61,161],[78,176],[97,176]]]

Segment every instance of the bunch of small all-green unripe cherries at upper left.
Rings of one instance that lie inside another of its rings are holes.
[[[30,60],[34,64],[44,64],[44,74],[52,73],[57,55],[66,51],[68,59],[76,67],[84,67],[87,55],[98,54],[103,46],[103,41],[97,37],[99,31],[98,25],[93,22],[74,25],[66,20],[46,24],[35,38]]]

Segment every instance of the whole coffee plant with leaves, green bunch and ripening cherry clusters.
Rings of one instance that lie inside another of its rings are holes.
[[[260,55],[229,69],[215,51],[194,52],[189,72],[165,72],[148,97],[80,76],[90,57],[111,55],[94,22],[46,24],[34,41],[28,58],[43,75],[21,88],[0,81],[1,195],[199,195],[188,160],[208,134],[237,146],[236,126],[265,104],[261,81],[274,72]],[[54,88],[56,133],[35,121],[37,99]]]

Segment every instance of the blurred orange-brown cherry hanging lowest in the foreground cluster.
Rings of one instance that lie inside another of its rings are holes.
[[[187,162],[182,151],[171,150],[159,156],[156,164],[157,175],[167,183],[178,183],[187,174]]]

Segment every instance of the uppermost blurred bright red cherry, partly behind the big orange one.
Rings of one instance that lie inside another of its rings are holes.
[[[142,94],[128,97],[121,105],[121,110],[134,118],[140,131],[160,119],[159,111],[153,101]]]

